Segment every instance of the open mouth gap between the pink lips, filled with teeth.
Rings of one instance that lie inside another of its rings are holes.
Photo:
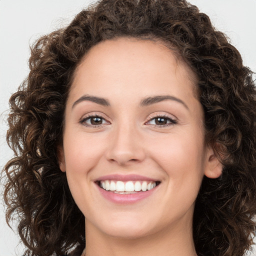
[[[133,194],[145,192],[159,185],[160,181],[153,180],[97,180],[95,183],[105,191],[117,194]]]

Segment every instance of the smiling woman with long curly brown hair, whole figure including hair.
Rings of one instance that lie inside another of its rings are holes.
[[[255,88],[205,14],[102,0],[41,37],[29,65],[4,193],[27,255],[245,254]]]

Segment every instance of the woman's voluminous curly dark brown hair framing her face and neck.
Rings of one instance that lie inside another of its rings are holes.
[[[171,45],[197,75],[205,138],[223,171],[220,178],[203,178],[193,217],[196,252],[244,255],[253,243],[256,213],[252,72],[209,17],[185,0],[101,0],[31,47],[29,75],[9,100],[7,141],[15,157],[4,168],[6,219],[17,215],[25,253],[63,255],[85,243],[84,216],[59,169],[57,146],[77,65],[93,45],[118,37]]]

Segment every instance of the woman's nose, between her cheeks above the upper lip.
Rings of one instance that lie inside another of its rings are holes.
[[[108,161],[119,165],[130,165],[145,158],[145,150],[138,129],[122,125],[112,131],[106,152]]]

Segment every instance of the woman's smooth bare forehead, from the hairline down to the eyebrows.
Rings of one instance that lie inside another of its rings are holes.
[[[184,102],[201,123],[203,111],[194,93],[195,80],[188,65],[162,43],[127,38],[103,41],[77,66],[66,113],[89,95],[104,98],[115,114],[136,115],[146,98],[167,95]],[[181,106],[169,102],[174,108]]]

